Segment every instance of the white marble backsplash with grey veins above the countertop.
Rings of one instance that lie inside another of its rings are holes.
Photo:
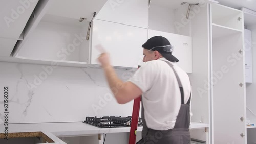
[[[134,71],[116,70],[126,81]],[[132,115],[114,99],[101,68],[0,62],[0,124],[8,86],[9,123],[79,122],[86,116]]]

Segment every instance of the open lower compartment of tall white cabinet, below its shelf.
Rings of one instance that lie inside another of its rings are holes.
[[[246,117],[244,61],[239,53],[243,50],[242,39],[240,32],[212,41],[214,143],[246,143],[246,122],[240,119]]]

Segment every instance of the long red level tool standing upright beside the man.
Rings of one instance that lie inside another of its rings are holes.
[[[129,136],[129,144],[135,144],[136,142],[136,133],[138,128],[138,120],[139,120],[139,113],[140,113],[140,100],[141,100],[141,97],[138,97],[134,99],[134,102],[133,102],[133,114],[132,114],[132,122],[131,122],[130,136]]]

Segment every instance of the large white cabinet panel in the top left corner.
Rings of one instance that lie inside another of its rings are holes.
[[[1,1],[0,37],[17,40],[24,30],[37,2],[38,0]]]

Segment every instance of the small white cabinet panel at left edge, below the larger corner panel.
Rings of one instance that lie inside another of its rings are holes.
[[[17,40],[0,38],[0,56],[9,57]]]

